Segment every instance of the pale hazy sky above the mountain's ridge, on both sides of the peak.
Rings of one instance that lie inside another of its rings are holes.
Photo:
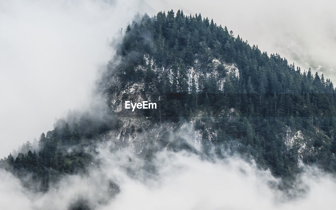
[[[0,156],[52,129],[55,117],[85,107],[111,37],[137,11],[201,12],[262,51],[302,69],[322,66],[332,81],[332,1],[0,0]]]

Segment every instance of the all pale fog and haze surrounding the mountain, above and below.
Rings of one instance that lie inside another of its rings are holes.
[[[55,117],[69,109],[89,107],[96,78],[114,54],[112,36],[136,12],[153,15],[171,8],[201,12],[261,51],[278,52],[302,69],[319,69],[336,80],[330,1],[0,0],[0,155],[51,130]],[[96,157],[104,165],[92,166],[88,175],[65,176],[45,194],[28,192],[0,170],[1,207],[68,209],[81,199],[97,209],[332,209],[336,204],[334,177],[315,167],[304,169],[289,192],[298,195],[289,199],[292,194],[276,187],[281,179],[240,157],[210,161],[166,151],[156,155],[150,173],[132,152],[106,148],[102,145]],[[107,195],[111,180],[120,186],[113,199]]]

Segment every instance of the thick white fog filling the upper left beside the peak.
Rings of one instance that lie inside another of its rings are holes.
[[[144,9],[146,8],[146,9]],[[0,155],[87,107],[112,36],[142,1],[0,0]]]

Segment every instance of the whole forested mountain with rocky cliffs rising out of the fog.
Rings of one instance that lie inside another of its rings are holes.
[[[58,120],[35,151],[27,142],[1,159],[26,187],[47,191],[67,174],[87,174],[90,165],[101,164],[96,149],[106,142],[111,152],[128,148],[153,173],[151,161],[166,150],[205,159],[239,154],[288,180],[311,164],[335,172],[330,79],[180,10],[137,16],[117,40],[97,83],[104,103]],[[125,101],[157,108],[132,112]],[[114,180],[108,184],[113,197],[120,188]]]

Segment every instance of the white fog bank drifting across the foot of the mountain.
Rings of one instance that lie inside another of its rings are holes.
[[[151,172],[145,167],[148,162],[126,149],[111,153],[104,144],[98,151],[100,167],[93,166],[89,175],[68,175],[45,194],[27,192],[1,170],[2,207],[66,210],[82,202],[83,209],[313,210],[336,204],[335,179],[314,167],[304,169],[296,187],[285,193],[277,187],[281,179],[269,170],[235,156],[207,160],[188,152],[159,152],[150,163],[155,168]],[[112,199],[110,180],[120,186]]]

